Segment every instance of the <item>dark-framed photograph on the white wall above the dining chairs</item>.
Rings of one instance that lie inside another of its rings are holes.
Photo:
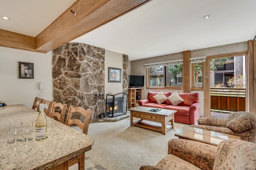
[[[34,63],[18,61],[18,78],[34,79]]]

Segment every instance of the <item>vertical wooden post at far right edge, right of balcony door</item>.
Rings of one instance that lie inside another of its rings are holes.
[[[256,115],[256,41],[248,41],[248,57],[247,57],[247,84],[248,84],[248,112]]]

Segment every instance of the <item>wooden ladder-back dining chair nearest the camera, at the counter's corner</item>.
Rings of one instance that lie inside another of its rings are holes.
[[[85,116],[84,123],[82,123],[78,119],[71,119],[72,113],[74,112],[80,112],[82,115]],[[71,124],[76,124],[81,130],[83,130],[83,133],[87,135],[88,133],[88,127],[89,127],[89,121],[91,116],[91,109],[83,109],[82,107],[73,107],[70,106],[68,109],[68,117],[66,120],[66,125],[70,126]],[[79,156],[72,158],[68,161],[68,167],[73,166],[74,164],[78,163],[78,169],[84,170],[84,153],[81,153]]]

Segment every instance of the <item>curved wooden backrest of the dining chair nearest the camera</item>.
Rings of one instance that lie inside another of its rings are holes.
[[[85,116],[84,123],[82,123],[78,119],[71,119],[73,112],[80,112],[82,115],[84,115]],[[66,125],[70,126],[71,124],[76,124],[81,130],[83,130],[83,133],[87,135],[90,116],[91,116],[91,109],[85,110],[82,107],[70,106],[69,109],[68,109],[68,117],[67,117],[67,120],[66,120]]]

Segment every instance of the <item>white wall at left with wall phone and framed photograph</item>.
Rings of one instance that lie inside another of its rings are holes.
[[[43,82],[42,98],[52,100],[52,52],[47,54],[0,47],[0,101],[7,105],[32,107],[39,97],[38,83]],[[18,79],[18,61],[34,63],[35,79]]]

